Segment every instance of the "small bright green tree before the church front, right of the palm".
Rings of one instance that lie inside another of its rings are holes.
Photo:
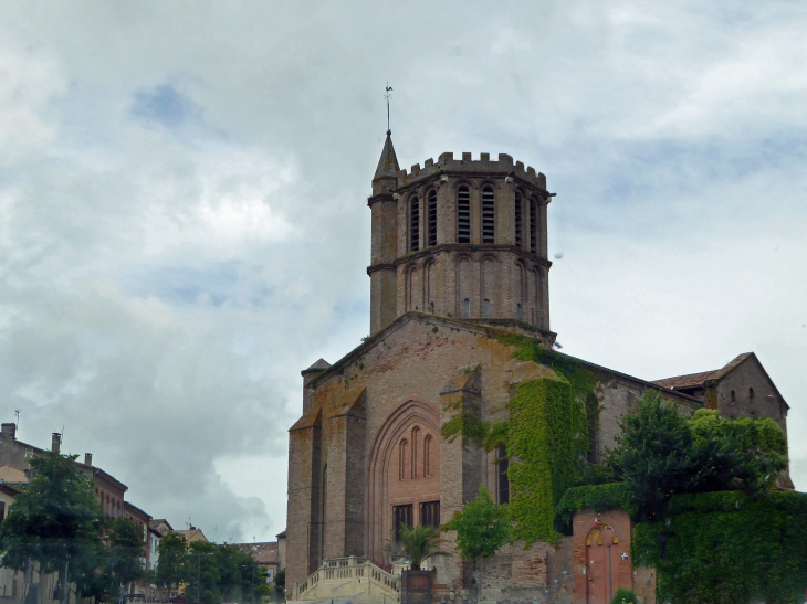
[[[457,549],[463,560],[493,557],[512,533],[507,508],[493,501],[490,491],[479,487],[479,495],[464,505],[462,511],[443,526],[442,530],[457,531]]]

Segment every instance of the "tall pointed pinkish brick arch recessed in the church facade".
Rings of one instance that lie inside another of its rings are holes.
[[[390,568],[384,548],[394,538],[400,509],[410,506],[409,517],[417,523],[423,504],[439,505],[440,447],[434,446],[439,434],[438,406],[409,399],[387,415],[373,439],[367,468],[366,551],[381,568]]]

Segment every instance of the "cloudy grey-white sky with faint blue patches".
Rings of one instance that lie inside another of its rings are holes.
[[[3,2],[2,421],[175,528],[273,539],[300,371],[368,332],[389,81],[401,167],[546,173],[565,352],[755,351],[807,489],[804,2],[495,7]]]

